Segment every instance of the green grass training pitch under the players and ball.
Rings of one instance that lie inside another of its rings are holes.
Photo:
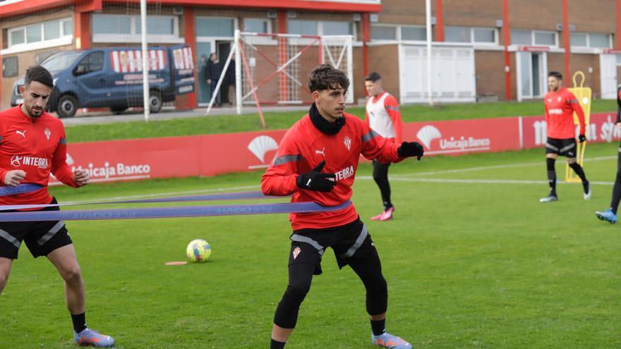
[[[404,161],[390,168],[394,220],[370,221],[380,194],[369,164],[354,204],[382,258],[387,329],[414,348],[620,348],[621,226],[598,221],[617,145],[589,145],[581,185],[548,186],[542,149]],[[564,159],[557,161],[559,179]],[[258,190],[262,173],[53,188],[60,202]],[[276,200],[278,201],[278,200]],[[280,200],[284,201],[284,200]],[[218,202],[228,204],[231,202]],[[239,202],[233,202],[239,203]],[[267,348],[287,283],[287,215],[71,221],[87,291],[88,325],[116,348]],[[205,264],[189,241],[212,245]],[[287,348],[372,348],[364,290],[323,259]],[[0,348],[75,348],[63,284],[25,247],[0,295]]]

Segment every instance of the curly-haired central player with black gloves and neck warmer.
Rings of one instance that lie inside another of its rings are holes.
[[[373,345],[409,349],[409,343],[385,330],[388,293],[380,257],[354,204],[348,203],[361,154],[381,163],[398,162],[406,157],[421,159],[423,146],[387,141],[356,116],[344,113],[349,80],[342,71],[319,66],[311,73],[308,87],[314,103],[284,135],[261,189],[265,195],[293,195],[291,202],[344,207],[289,216],[293,228],[289,284],[276,309],[270,348],[284,348],[313,275],[322,272],[321,257],[332,247],[339,268],[349,265],[366,288]]]

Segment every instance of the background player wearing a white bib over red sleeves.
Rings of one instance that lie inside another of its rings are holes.
[[[401,144],[402,122],[401,112],[397,99],[385,92],[382,87],[382,77],[373,71],[364,78],[364,87],[369,95],[366,102],[364,121],[375,132],[387,140]],[[388,183],[388,164],[382,164],[373,159],[373,179],[380,187],[384,209],[381,214],[371,217],[373,221],[387,221],[392,219],[394,205],[390,201],[390,183]]]

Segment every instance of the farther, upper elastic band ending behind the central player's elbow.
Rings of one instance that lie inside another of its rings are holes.
[[[186,195],[174,197],[158,197],[153,199],[101,201],[101,202],[75,202],[71,204],[15,204],[0,206],[0,211],[10,209],[44,209],[46,207],[82,206],[91,204],[145,204],[152,202],[192,202],[192,201],[218,201],[218,200],[243,200],[243,199],[277,199],[278,196],[263,195],[259,190],[253,192],[222,192],[218,194]]]

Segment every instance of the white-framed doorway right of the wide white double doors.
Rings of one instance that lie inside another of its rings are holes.
[[[545,52],[517,51],[517,100],[542,98],[548,90]]]

